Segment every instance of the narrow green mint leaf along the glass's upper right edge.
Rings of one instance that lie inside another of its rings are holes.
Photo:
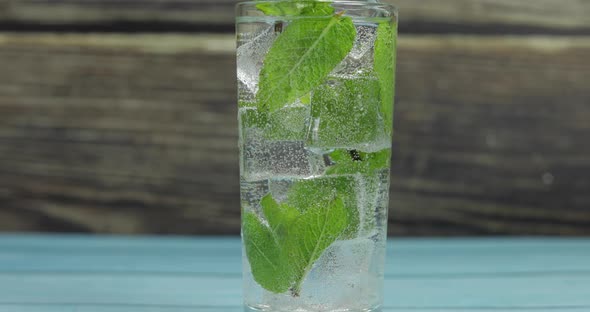
[[[388,22],[379,23],[375,40],[374,64],[381,84],[381,114],[388,134],[393,131],[396,45],[397,25],[392,26]]]

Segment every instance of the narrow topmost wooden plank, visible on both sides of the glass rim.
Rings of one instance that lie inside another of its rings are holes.
[[[0,29],[231,31],[237,0],[0,0]],[[584,0],[385,0],[404,33],[590,34]]]

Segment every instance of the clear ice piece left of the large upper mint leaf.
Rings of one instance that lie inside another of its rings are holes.
[[[266,26],[253,39],[244,39],[238,46],[238,81],[243,85],[243,88],[239,89],[240,99],[252,98],[258,91],[258,79],[264,56],[277,37],[274,25]]]

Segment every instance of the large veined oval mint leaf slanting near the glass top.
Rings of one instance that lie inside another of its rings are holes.
[[[309,93],[344,59],[355,36],[352,19],[338,14],[292,21],[264,59],[259,105],[273,112]]]

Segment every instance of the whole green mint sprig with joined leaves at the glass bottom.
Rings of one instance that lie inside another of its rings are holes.
[[[252,275],[268,291],[290,290],[297,297],[315,261],[347,228],[348,212],[337,197],[322,209],[278,204],[270,194],[260,204],[268,225],[252,212],[245,213],[243,221]]]

